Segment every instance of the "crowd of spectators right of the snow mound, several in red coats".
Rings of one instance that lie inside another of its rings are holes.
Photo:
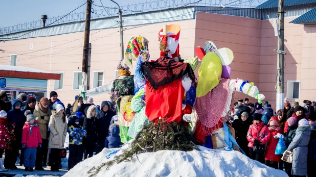
[[[271,105],[238,99],[229,122],[246,156],[289,176],[316,176],[316,102],[304,100],[303,106],[284,99],[284,109],[273,112]],[[291,151],[293,162],[282,161],[276,154],[279,139]]]

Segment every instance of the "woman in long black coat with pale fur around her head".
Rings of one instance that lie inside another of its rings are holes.
[[[89,106],[86,112],[86,117],[83,121],[83,128],[86,130],[84,138],[84,156],[83,159],[93,156],[95,143],[97,142],[97,107]]]

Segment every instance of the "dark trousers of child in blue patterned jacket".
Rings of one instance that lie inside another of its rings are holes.
[[[68,169],[72,169],[82,161],[83,145],[69,144]]]

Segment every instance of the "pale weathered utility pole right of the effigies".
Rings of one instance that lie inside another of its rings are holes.
[[[278,14],[277,110],[284,107],[284,0],[279,0]]]

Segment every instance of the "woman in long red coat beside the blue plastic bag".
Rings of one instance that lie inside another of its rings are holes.
[[[264,164],[278,169],[279,162],[281,162],[282,155],[276,155],[276,147],[278,145],[279,139],[275,139],[274,136],[278,133],[283,134],[283,130],[279,127],[279,120],[276,117],[272,117],[269,122],[270,140],[268,146],[266,147]]]

